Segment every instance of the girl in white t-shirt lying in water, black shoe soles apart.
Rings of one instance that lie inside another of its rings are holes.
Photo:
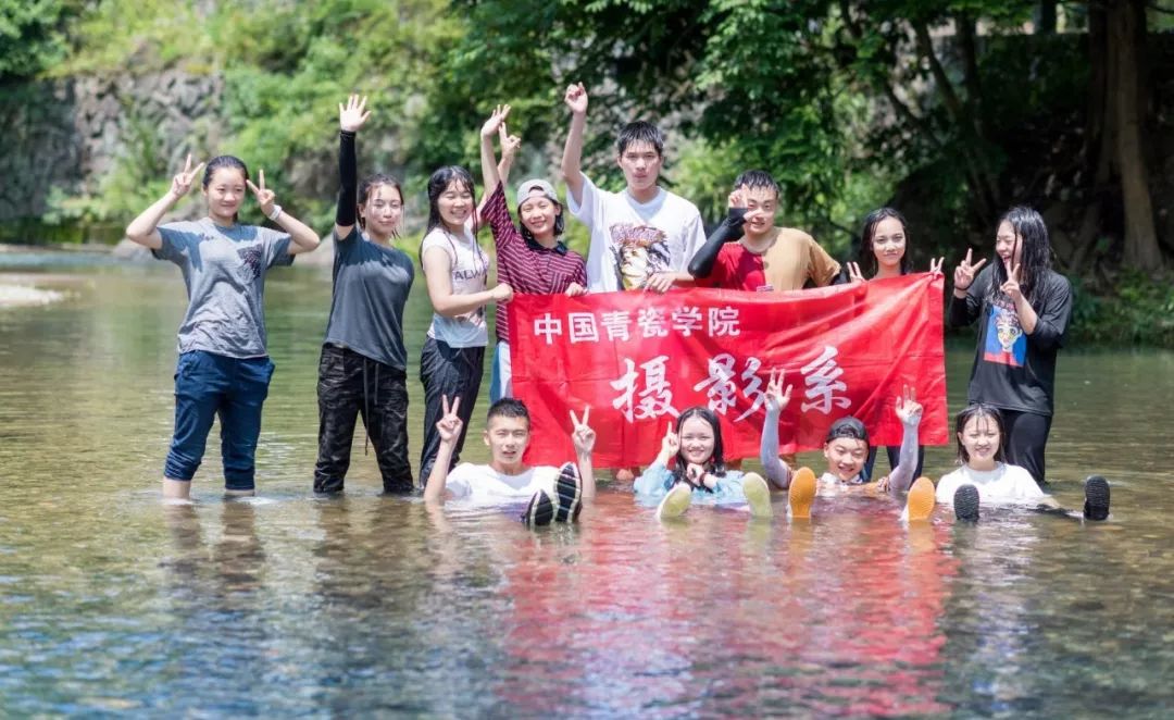
[[[1006,430],[998,408],[983,403],[967,405],[954,419],[954,435],[962,467],[938,480],[936,494],[937,502],[953,504],[959,520],[977,520],[980,505],[1027,505],[1043,512],[1077,514],[1040,490],[1027,470],[1004,462]],[[1082,517],[1108,518],[1108,480],[1089,476],[1085,480]]]

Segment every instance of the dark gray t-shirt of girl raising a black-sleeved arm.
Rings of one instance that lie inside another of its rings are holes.
[[[335,236],[335,294],[326,342],[407,370],[404,304],[416,270],[402,250],[370,242],[358,226]]]

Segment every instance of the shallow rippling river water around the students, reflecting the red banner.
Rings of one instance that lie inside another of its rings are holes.
[[[158,499],[175,269],[8,253],[0,271],[66,295],[0,310],[0,714],[1174,707],[1169,352],[1061,358],[1053,492],[1079,507],[1080,479],[1105,473],[1106,524],[1005,510],[903,529],[893,502],[839,498],[811,523],[695,509],[660,525],[606,487],[578,526],[531,532],[499,510],[380,497],[362,440],[346,496],[312,496],[325,271],[270,276],[261,497],[221,497],[214,435],[190,506]],[[416,290],[413,359],[429,317]],[[949,355],[952,409],[972,348]],[[416,368],[409,378],[414,452]],[[477,430],[466,458],[484,462]],[[926,470],[947,471],[950,455],[930,449]]]

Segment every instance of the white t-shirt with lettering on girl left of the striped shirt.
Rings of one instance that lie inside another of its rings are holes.
[[[452,270],[453,295],[472,295],[487,288],[490,256],[477,244],[477,237],[468,227],[460,235],[444,227],[433,228],[420,243],[420,257],[429,248],[440,248],[448,255]],[[485,307],[470,310],[457,317],[432,314],[429,337],[446,343],[450,348],[484,348],[490,343],[485,324]]]

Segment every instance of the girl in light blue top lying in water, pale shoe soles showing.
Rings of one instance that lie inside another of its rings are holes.
[[[673,463],[673,467],[669,467]],[[722,428],[714,411],[695,405],[669,423],[660,455],[632,486],[639,500],[659,500],[656,517],[677,518],[693,503],[749,505],[756,518],[769,518],[770,487],[762,476],[726,467]]]

